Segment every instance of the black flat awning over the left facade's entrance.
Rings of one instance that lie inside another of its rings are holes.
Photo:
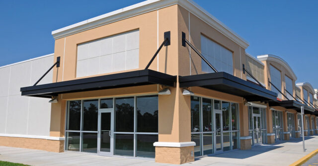
[[[21,88],[22,96],[51,98],[63,93],[161,84],[174,87],[176,76],[146,69]]]

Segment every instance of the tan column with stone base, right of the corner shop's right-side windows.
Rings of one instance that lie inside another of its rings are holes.
[[[240,149],[247,150],[251,148],[251,137],[248,132],[248,107],[243,103],[239,104],[239,131],[240,131]]]

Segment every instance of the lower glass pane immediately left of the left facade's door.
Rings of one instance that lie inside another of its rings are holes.
[[[97,153],[97,133],[82,133],[82,152]]]

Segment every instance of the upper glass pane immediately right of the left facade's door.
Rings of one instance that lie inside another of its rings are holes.
[[[115,131],[134,131],[134,97],[116,98]]]

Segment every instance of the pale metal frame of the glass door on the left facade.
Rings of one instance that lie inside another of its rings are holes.
[[[101,114],[110,113],[110,152],[100,151],[100,137],[101,137]],[[97,154],[100,156],[113,156],[114,155],[114,108],[112,109],[98,109],[98,133],[97,133]]]

